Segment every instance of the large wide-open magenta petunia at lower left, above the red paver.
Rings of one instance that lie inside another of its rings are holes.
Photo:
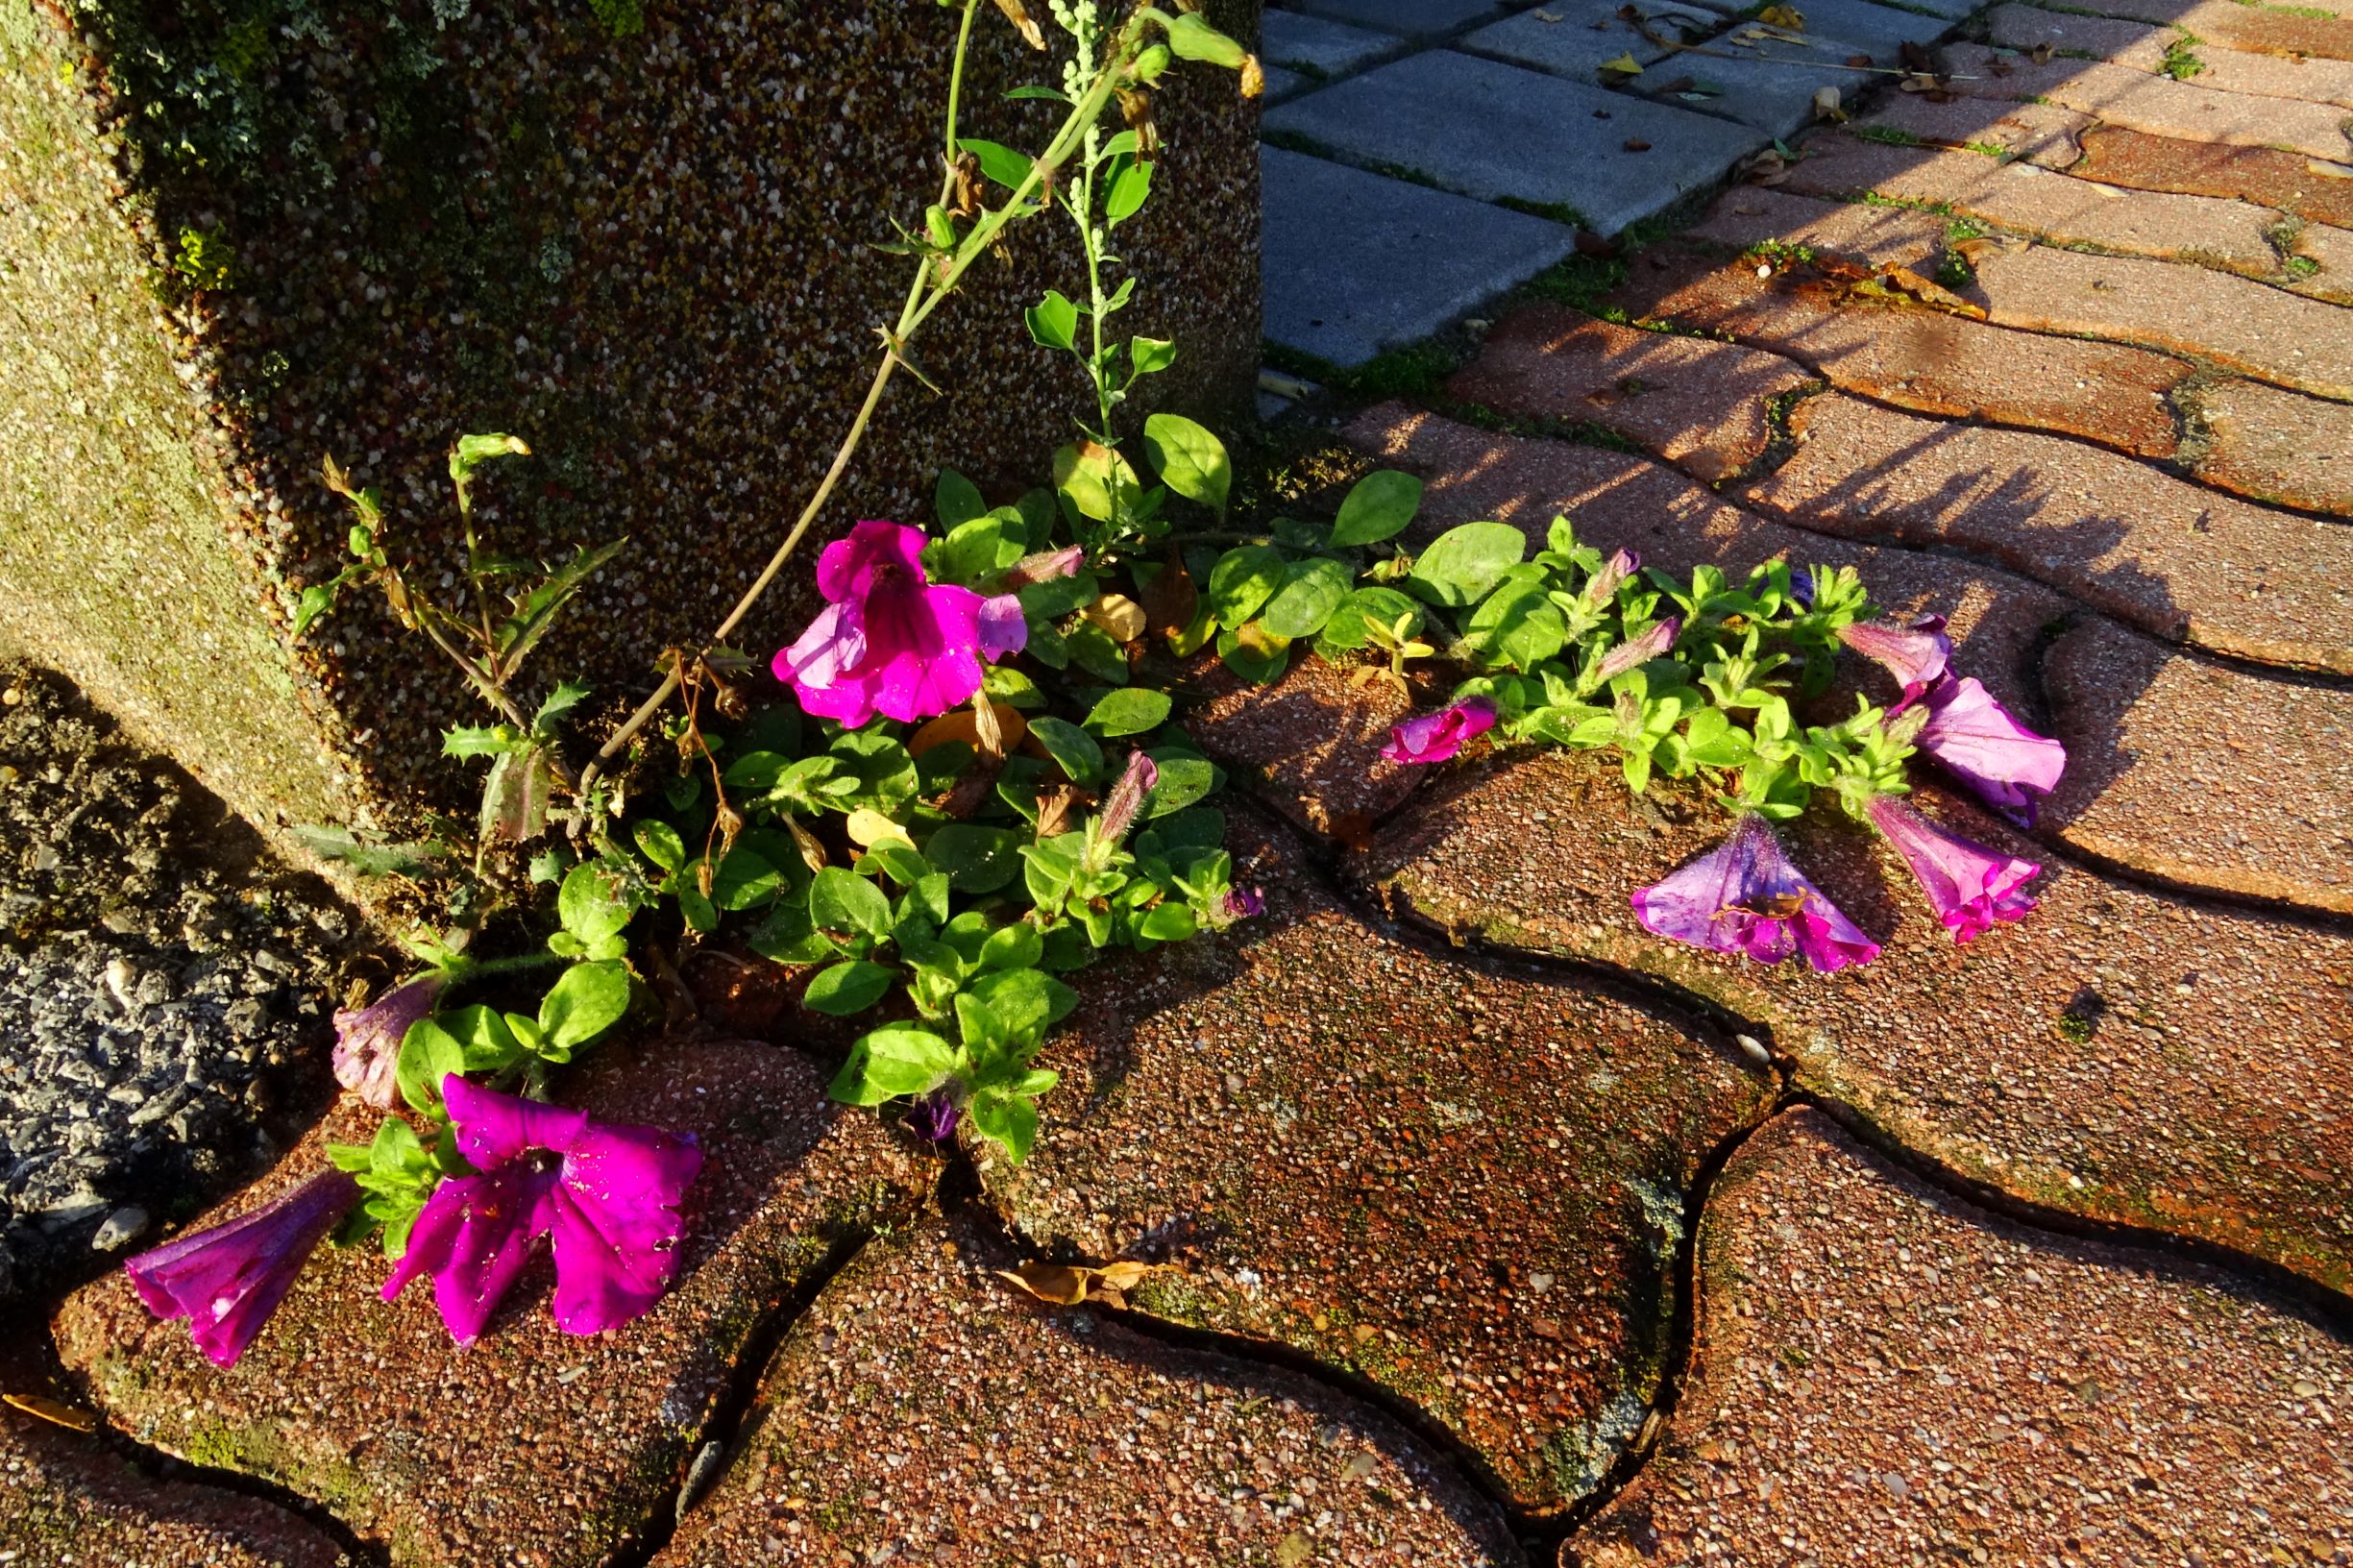
[[[442,1078],[456,1149],[478,1175],[445,1177],[384,1281],[393,1300],[419,1274],[449,1337],[473,1344],[541,1236],[555,1238],[555,1326],[619,1328],[661,1300],[678,1271],[678,1212],[704,1168],[692,1137],[607,1125],[584,1111]]]

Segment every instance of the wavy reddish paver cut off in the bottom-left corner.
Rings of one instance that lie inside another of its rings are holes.
[[[0,1410],[0,1561],[26,1568],[353,1568],[341,1547],[278,1504],[155,1481],[99,1439],[21,1410]]]

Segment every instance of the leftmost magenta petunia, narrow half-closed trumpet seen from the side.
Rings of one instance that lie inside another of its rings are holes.
[[[235,1366],[294,1288],[311,1250],[358,1201],[360,1184],[329,1170],[228,1224],[125,1260],[122,1271],[148,1311],[165,1321],[188,1318],[195,1349],[214,1366]]]

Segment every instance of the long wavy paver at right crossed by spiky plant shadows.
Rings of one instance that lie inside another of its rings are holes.
[[[1746,499],[1854,539],[1960,546],[2160,638],[2353,671],[2353,530],[2057,436],[1814,398]]]

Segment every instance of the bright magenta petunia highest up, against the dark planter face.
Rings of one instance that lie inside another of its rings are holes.
[[[776,655],[800,706],[842,725],[934,718],[981,690],[981,664],[1028,640],[1021,603],[922,572],[922,530],[859,523],[816,556],[826,607]]]

